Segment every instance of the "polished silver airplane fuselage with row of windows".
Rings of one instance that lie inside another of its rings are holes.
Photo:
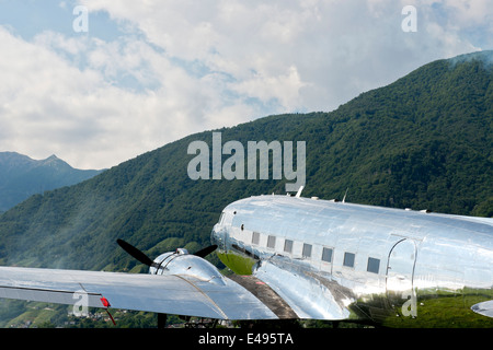
[[[218,256],[255,275],[300,318],[389,326],[486,326],[493,220],[289,196],[227,206]]]

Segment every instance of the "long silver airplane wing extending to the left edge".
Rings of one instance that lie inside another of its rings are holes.
[[[0,267],[0,298],[113,307],[217,319],[276,319],[228,278]]]

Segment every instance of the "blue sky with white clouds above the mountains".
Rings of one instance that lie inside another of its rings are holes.
[[[0,0],[0,152],[108,168],[489,49],[491,0]]]

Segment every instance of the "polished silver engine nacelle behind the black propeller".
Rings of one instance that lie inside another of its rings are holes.
[[[149,268],[151,275],[190,276],[202,281],[226,284],[219,270],[206,259],[184,248],[161,254]]]

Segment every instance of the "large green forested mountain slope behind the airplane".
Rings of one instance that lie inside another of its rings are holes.
[[[220,132],[306,141],[303,196],[493,215],[491,51],[431,62],[331,113],[268,116]],[[139,271],[123,238],[153,257],[208,244],[230,201],[285,192],[286,179],[196,179],[191,135],[70,187],[34,195],[0,217],[0,264]],[[222,156],[222,162],[229,155]],[[211,258],[214,262],[215,258]]]

